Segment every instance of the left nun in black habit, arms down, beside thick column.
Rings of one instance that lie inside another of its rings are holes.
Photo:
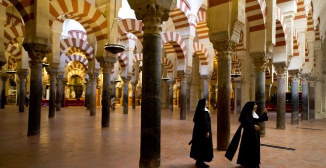
[[[190,158],[196,160],[196,166],[208,168],[204,162],[213,160],[213,140],[212,129],[210,123],[210,112],[206,108],[208,102],[205,98],[198,101],[196,112],[193,122],[194,130],[192,140],[189,142],[191,145]]]

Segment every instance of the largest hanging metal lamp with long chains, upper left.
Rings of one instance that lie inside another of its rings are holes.
[[[118,19],[116,17],[116,1],[114,1],[114,19],[113,24],[108,35],[108,41],[106,42],[104,49],[113,54],[117,54],[124,51],[124,46],[118,32]]]

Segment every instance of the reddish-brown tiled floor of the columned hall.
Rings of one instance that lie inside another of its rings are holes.
[[[42,107],[41,135],[27,136],[28,108],[0,109],[1,168],[138,168],[140,154],[140,107],[122,107],[111,111],[110,127],[101,128],[101,107],[96,117],[81,107],[61,108],[55,118],[48,119],[48,108]],[[216,111],[212,111],[213,144],[216,146]],[[179,120],[179,109],[162,109],[161,168],[195,168],[189,158],[189,140],[193,129],[193,111],[187,120]],[[261,147],[262,168],[326,168],[326,119],[290,124],[286,114],[286,130],[277,130],[276,113],[269,113],[266,137],[261,143],[294,148],[294,151]],[[231,136],[239,126],[239,115],[231,115]],[[302,127],[302,128],[298,128]],[[313,128],[313,129],[303,129]],[[235,168],[224,151],[214,150],[211,168]]]

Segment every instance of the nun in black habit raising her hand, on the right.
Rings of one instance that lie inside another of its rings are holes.
[[[237,164],[240,164],[245,168],[259,168],[260,164],[260,136],[258,122],[268,121],[268,117],[267,109],[264,109],[264,113],[261,117],[256,114],[256,109],[256,102],[248,101],[245,103],[239,117],[241,125],[233,136],[225,153],[225,157],[232,161],[239,145],[241,130],[244,128]]]

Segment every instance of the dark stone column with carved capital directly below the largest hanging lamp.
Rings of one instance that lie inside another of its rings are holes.
[[[102,127],[110,127],[110,85],[111,85],[111,68],[113,63],[100,62],[103,70],[103,91],[102,91]]]

